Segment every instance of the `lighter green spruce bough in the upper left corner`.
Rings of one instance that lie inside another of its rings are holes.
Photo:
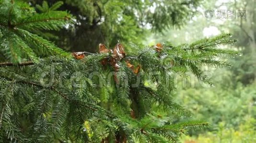
[[[39,56],[69,55],[37,35],[37,31],[59,30],[70,23],[72,17],[67,11],[53,8],[38,14],[26,3],[1,0],[0,16],[1,53],[5,60],[17,63],[31,59],[36,62]]]

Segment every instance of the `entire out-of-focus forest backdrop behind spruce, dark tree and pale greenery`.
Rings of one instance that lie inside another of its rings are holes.
[[[48,4],[27,1],[43,11],[58,0],[47,0]],[[230,69],[204,69],[214,87],[189,74],[185,82],[175,78],[177,102],[193,112],[194,118],[211,124],[207,130],[184,136],[183,142],[256,143],[256,0],[62,1],[60,10],[70,11],[76,23],[42,36],[68,51],[96,52],[99,43],[112,48],[117,40],[132,51],[129,45],[133,43],[154,45],[168,40],[178,45],[232,33],[238,42],[221,48],[240,51],[241,55],[233,58]],[[235,11],[235,17],[229,10]]]

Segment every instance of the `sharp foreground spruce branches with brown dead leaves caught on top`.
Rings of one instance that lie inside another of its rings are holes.
[[[174,46],[133,45],[130,52],[99,45],[99,53],[61,50],[42,38],[73,23],[60,3],[35,12],[19,0],[0,0],[0,141],[19,143],[175,143],[203,128],[173,101],[174,74],[202,66],[229,67],[215,48],[230,34]],[[73,57],[71,56],[73,55]]]

